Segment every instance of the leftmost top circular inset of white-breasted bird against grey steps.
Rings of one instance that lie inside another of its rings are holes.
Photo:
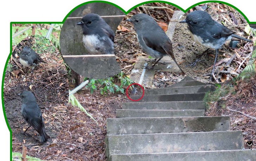
[[[102,79],[120,73],[114,55],[114,37],[124,13],[105,3],[75,8],[60,33],[60,49],[66,64],[79,75]]]

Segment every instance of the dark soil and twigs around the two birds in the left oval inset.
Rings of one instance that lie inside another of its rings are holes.
[[[21,65],[18,59],[24,46],[30,46],[47,63],[40,63],[34,68],[32,85],[31,70]],[[24,39],[13,49],[7,66],[9,71],[5,72],[4,105],[12,130],[12,151],[21,152],[24,145],[28,150],[27,155],[46,159],[44,155],[49,155],[49,146],[58,137],[67,116],[68,77],[62,57],[48,39],[34,36]],[[40,137],[32,127],[27,130],[27,135],[23,134],[28,125],[21,117],[21,98],[17,94],[24,90],[35,95],[44,118],[46,133],[51,137],[43,145],[40,144]]]

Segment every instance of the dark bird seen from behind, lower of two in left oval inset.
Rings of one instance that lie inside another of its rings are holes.
[[[41,143],[45,143],[50,136],[45,132],[44,118],[42,117],[42,113],[37,105],[36,98],[29,91],[24,91],[18,95],[22,98],[21,116],[29,125],[28,128],[32,126],[38,132]],[[24,133],[26,133],[27,129]]]

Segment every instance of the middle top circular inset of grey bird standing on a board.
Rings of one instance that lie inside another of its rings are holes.
[[[116,31],[115,55],[123,73],[147,88],[163,88],[185,77],[173,54],[173,31],[184,12],[165,3],[134,8]]]

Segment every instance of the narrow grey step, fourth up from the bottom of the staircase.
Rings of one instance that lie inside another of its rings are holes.
[[[195,117],[204,116],[205,110],[116,110],[116,117]]]

